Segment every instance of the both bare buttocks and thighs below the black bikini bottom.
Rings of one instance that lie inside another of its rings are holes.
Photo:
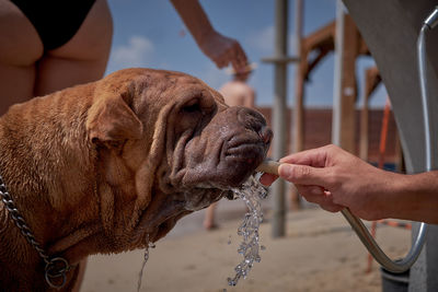
[[[8,0],[0,0],[0,27],[8,27],[0,30],[0,115],[12,104],[105,72],[113,35],[106,0],[96,0],[72,39],[47,52],[32,23]]]

